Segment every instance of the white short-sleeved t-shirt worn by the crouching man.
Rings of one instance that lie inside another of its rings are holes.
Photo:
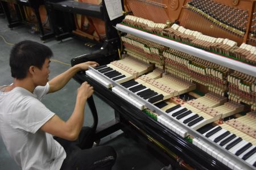
[[[5,87],[0,87],[0,135],[9,154],[22,169],[60,169],[64,148],[40,130],[55,114],[40,101],[49,84],[36,87],[34,94],[22,87],[3,92]]]

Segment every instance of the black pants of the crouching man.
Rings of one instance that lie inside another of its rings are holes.
[[[61,166],[61,170],[107,170],[115,163],[116,153],[110,146],[92,147],[95,131],[89,127],[82,127],[79,138],[76,141],[54,137],[64,147],[67,158]]]

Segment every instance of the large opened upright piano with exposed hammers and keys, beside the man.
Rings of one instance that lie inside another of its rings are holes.
[[[125,58],[74,78],[94,86],[124,129],[181,167],[256,169],[255,2],[124,6],[133,12],[116,25],[127,33]]]

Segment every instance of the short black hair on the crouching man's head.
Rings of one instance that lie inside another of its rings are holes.
[[[15,44],[10,54],[11,76],[16,79],[25,78],[30,66],[42,69],[46,58],[52,55],[48,46],[38,42],[25,40]]]

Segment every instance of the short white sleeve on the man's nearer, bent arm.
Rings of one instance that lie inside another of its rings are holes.
[[[13,128],[36,133],[55,113],[34,97],[26,97],[11,113]]]

